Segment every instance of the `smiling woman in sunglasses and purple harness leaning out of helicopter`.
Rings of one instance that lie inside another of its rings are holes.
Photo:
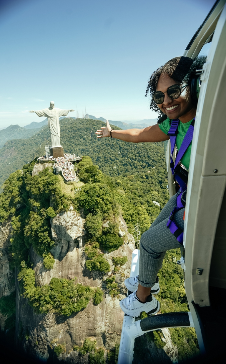
[[[202,69],[205,60],[205,56],[195,60],[176,57],[153,72],[146,96],[150,93],[150,108],[159,111],[158,124],[144,129],[112,130],[107,120],[107,126],[96,132],[98,138],[111,137],[133,143],[159,142],[170,138],[171,154],[175,145],[178,149],[175,166],[173,159],[170,163],[178,182],[177,194],[170,198],[150,229],[141,236],[139,276],[125,281],[126,287],[133,293],[120,301],[120,307],[129,316],[138,317],[142,311],[148,314],[159,311],[159,302],[152,296],[159,292],[157,274],[166,251],[183,244],[188,169],[201,86],[196,70]]]

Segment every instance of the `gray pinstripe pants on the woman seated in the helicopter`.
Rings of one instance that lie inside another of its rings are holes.
[[[169,199],[151,227],[140,238],[138,282],[143,287],[152,287],[155,284],[166,250],[181,247],[181,244],[167,228],[170,212],[177,206],[177,194]],[[181,209],[173,215],[176,225],[181,230],[184,229],[184,210]]]

